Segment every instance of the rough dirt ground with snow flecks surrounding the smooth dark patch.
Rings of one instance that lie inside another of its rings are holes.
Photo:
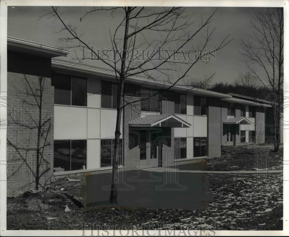
[[[236,154],[231,157],[223,155],[226,162],[235,159],[239,169],[254,168],[253,153],[241,153],[239,148],[227,149],[223,149],[223,154]],[[276,161],[279,161],[279,155],[281,153],[275,154]],[[241,157],[245,157],[244,161],[236,161]],[[223,165],[218,165],[224,164],[225,161],[221,159],[214,163],[210,161],[209,170],[216,167],[224,169]],[[68,178],[79,181],[68,181]],[[73,230],[82,229],[81,222],[94,222],[100,226],[153,225],[155,229],[186,229],[192,226],[196,229],[200,226],[212,227],[215,230],[282,229],[283,174],[268,174],[266,180],[261,180],[262,185],[255,178],[255,174],[208,174],[214,200],[205,210],[108,205],[88,208],[85,206],[85,175],[55,178],[49,189],[28,197],[23,197],[23,192],[7,194],[7,229]]]

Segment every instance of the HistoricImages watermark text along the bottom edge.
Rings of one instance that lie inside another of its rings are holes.
[[[164,227],[164,223],[155,225],[97,225],[94,222],[81,222],[81,236],[215,236],[214,226],[183,225]],[[87,235],[86,235],[87,234]]]

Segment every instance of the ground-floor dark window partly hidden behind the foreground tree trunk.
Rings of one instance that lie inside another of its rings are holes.
[[[122,139],[120,139],[122,144]],[[114,149],[114,139],[101,139],[100,140],[100,167],[112,166],[112,150]],[[119,164],[123,165],[123,159]]]

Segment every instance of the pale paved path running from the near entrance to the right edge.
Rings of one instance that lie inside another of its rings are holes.
[[[154,172],[164,172],[164,169],[166,171],[171,171],[171,172],[188,172],[188,173],[232,173],[232,174],[254,174],[256,171],[254,170],[234,170],[234,171],[209,171],[209,170],[180,170],[180,169],[172,169],[168,167],[155,167],[155,168],[150,168],[150,169],[144,169],[144,170],[151,170]],[[258,170],[258,172],[265,171],[265,170]],[[283,170],[267,170],[268,173],[282,173]]]

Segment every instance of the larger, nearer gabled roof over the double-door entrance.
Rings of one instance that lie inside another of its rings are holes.
[[[142,118],[134,119],[129,123],[133,127],[171,127],[171,128],[189,128],[191,124],[182,120],[178,116],[172,115],[147,115]]]

